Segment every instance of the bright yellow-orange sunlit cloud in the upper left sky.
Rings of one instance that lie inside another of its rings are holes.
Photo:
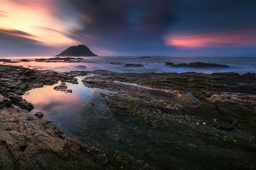
[[[0,28],[26,32],[28,35],[15,36],[34,39],[45,45],[78,44],[79,42],[69,38],[67,33],[79,25],[52,17],[54,12],[52,6],[52,0],[44,0],[40,3],[35,0],[29,3],[1,0],[0,11],[5,12],[5,16],[0,16]]]

